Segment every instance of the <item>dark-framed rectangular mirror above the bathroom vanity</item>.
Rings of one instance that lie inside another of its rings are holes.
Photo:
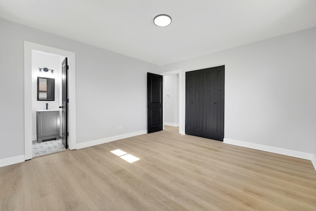
[[[55,100],[55,79],[38,77],[38,100]]]

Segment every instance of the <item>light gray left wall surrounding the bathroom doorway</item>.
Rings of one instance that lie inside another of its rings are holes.
[[[4,19],[0,29],[0,159],[24,155],[24,41],[76,53],[77,143],[147,129],[157,65]]]

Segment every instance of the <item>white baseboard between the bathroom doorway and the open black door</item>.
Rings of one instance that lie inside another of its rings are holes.
[[[99,144],[104,144],[104,143],[108,143],[111,141],[117,141],[123,138],[129,138],[129,137],[133,137],[136,135],[143,135],[146,134],[147,130],[141,130],[141,131],[137,131],[137,132],[130,132],[130,133],[126,133],[126,134],[121,134],[121,135],[116,135],[116,136],[111,136],[111,137],[107,137],[107,138],[100,138],[97,140],[92,140],[92,141],[86,141],[83,143],[77,143],[77,149],[82,149],[85,147],[91,147],[91,146],[95,146],[95,145],[99,145]]]

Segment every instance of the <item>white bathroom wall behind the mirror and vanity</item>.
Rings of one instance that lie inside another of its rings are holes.
[[[61,85],[61,62],[64,57],[41,53],[32,50],[32,136],[33,140],[37,139],[36,135],[36,111],[46,109],[59,109],[60,104],[60,85]],[[39,71],[39,67],[54,70],[54,73]],[[37,78],[45,77],[55,79],[55,100],[54,101],[38,101],[37,100]]]

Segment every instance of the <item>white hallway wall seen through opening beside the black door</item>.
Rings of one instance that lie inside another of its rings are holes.
[[[179,127],[179,74],[163,77],[164,124]]]

